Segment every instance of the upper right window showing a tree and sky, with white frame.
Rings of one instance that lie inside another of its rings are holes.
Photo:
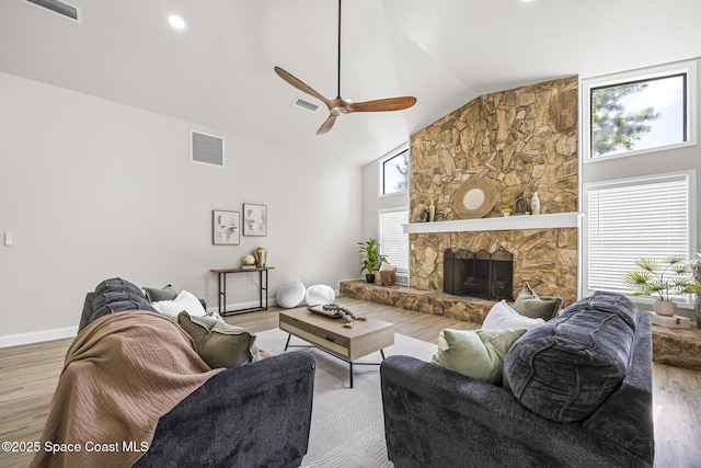
[[[583,80],[584,161],[696,142],[696,61]]]

